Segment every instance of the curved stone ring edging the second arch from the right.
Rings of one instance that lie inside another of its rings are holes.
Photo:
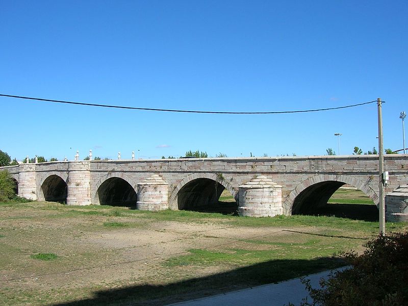
[[[232,196],[235,198],[236,202],[238,203],[238,191],[235,190],[230,183],[228,183],[222,175],[216,174],[216,173],[205,173],[205,172],[200,172],[200,173],[193,173],[190,175],[187,175],[182,181],[177,184],[174,189],[171,191],[170,196],[169,196],[169,207],[172,210],[178,210],[179,205],[177,202],[179,192],[190,182],[193,182],[195,180],[199,179],[208,179],[217,182],[218,184],[222,185],[223,188],[228,190]],[[221,190],[222,192],[222,190]]]

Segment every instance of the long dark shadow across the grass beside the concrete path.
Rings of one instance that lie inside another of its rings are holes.
[[[166,305],[195,298],[277,283],[302,275],[344,266],[336,258],[312,260],[273,260],[205,277],[168,285],[138,285],[95,291],[94,297],[58,303],[60,306],[85,305]]]

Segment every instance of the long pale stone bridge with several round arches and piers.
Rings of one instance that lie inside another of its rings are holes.
[[[18,195],[67,205],[137,203],[141,210],[205,207],[224,189],[248,216],[301,213],[327,203],[342,185],[378,206],[378,156],[64,161],[2,167]],[[386,155],[388,220],[408,216],[408,155]]]

